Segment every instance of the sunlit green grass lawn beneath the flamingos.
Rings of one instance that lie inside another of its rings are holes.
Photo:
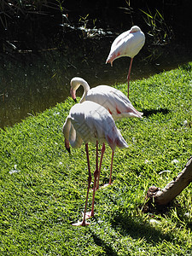
[[[126,93],[126,84],[115,86]],[[113,185],[96,191],[87,227],[71,225],[82,218],[88,174],[84,145],[71,155],[64,147],[73,101],[0,131],[1,255],[192,254],[191,184],[164,214],[141,211],[148,187],[163,188],[192,154],[192,63],[131,82],[130,96],[144,117],[117,122],[129,148],[115,151]],[[101,183],[110,156],[107,146]],[[90,163],[93,172],[91,144]]]

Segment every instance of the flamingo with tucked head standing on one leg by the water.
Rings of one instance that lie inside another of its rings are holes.
[[[108,55],[108,59],[106,61],[106,63],[111,63],[111,66],[113,66],[114,60],[122,56],[131,57],[129,72],[127,76],[127,81],[128,81],[127,96],[128,97],[129,97],[132,61],[134,56],[137,55],[140,49],[143,48],[144,43],[145,43],[145,35],[141,31],[140,27],[132,26],[130,30],[121,33],[117,38],[115,38]]]

